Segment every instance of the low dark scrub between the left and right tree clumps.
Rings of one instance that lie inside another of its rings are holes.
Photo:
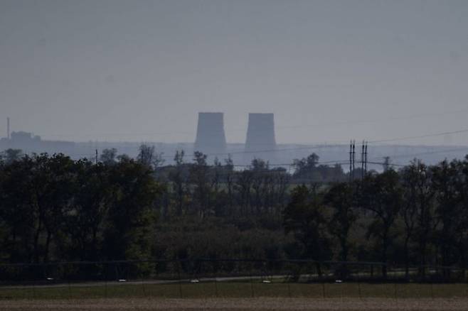
[[[265,222],[264,218],[184,217],[161,224],[155,234],[154,258],[284,258],[282,246],[292,239],[284,236],[279,219],[270,229],[262,228]]]

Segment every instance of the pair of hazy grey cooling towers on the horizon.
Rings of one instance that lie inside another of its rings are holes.
[[[274,114],[249,114],[245,153],[252,153],[253,157],[255,153],[274,151],[275,148]],[[218,158],[225,155],[227,148],[222,112],[198,113],[194,150],[218,156]]]

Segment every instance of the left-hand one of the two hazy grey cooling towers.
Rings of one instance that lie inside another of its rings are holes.
[[[194,151],[205,154],[225,153],[226,138],[222,112],[199,112]],[[213,158],[223,155],[213,155]]]

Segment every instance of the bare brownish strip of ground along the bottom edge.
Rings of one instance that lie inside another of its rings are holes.
[[[211,299],[95,299],[1,301],[0,310],[468,310],[468,299],[389,298],[211,298]]]

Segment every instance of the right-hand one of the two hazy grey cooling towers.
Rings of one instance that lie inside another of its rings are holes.
[[[274,114],[249,114],[245,160],[275,158],[275,116]]]

